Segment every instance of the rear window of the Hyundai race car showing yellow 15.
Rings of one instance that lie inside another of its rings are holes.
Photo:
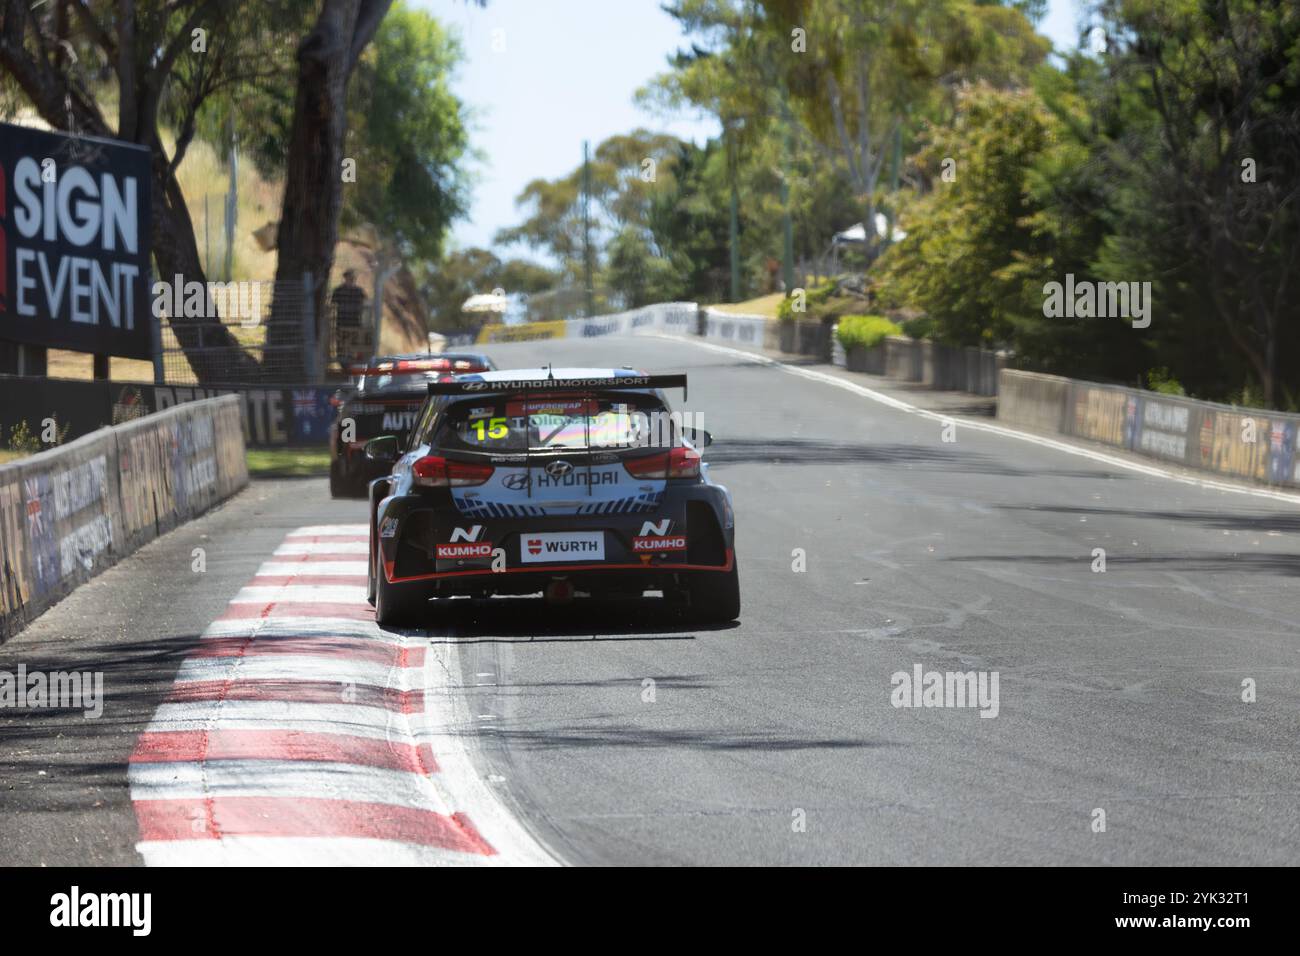
[[[641,395],[521,395],[447,410],[438,444],[476,451],[620,449],[671,445],[676,431],[658,399]]]

